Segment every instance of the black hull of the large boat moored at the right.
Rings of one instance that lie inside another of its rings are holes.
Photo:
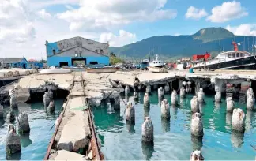
[[[194,69],[256,69],[256,59],[255,56],[250,56],[207,66],[196,66]]]

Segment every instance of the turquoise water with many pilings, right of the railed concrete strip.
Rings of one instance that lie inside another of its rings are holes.
[[[190,99],[186,95],[183,103],[171,107],[171,120],[161,120],[157,93],[150,95],[150,116],[154,125],[154,144],[141,144],[141,125],[144,108],[143,95],[135,105],[135,125],[126,125],[122,117],[125,105],[121,100],[121,111],[113,112],[108,104],[93,109],[96,130],[102,144],[105,159],[152,159],[152,160],[187,160],[194,149],[201,148],[205,160],[254,160],[256,151],[250,144],[256,145],[255,113],[246,115],[244,135],[232,133],[231,116],[226,114],[226,102],[215,106],[214,95],[205,95],[203,105],[204,137],[190,135]],[[171,95],[164,95],[171,103]],[[126,99],[124,99],[127,101]],[[130,101],[134,99],[130,97]],[[244,112],[245,104],[235,102]]]

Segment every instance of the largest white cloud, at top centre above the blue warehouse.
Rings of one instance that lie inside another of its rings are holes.
[[[70,30],[109,29],[133,21],[157,21],[175,18],[176,10],[162,9],[167,0],[80,1],[80,8],[59,13],[70,23]]]

